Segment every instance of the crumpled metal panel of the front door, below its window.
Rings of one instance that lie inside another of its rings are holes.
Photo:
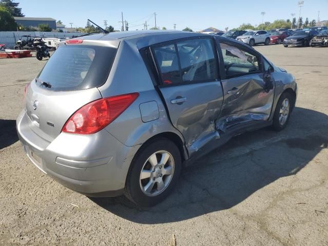
[[[274,78],[272,77],[273,81]],[[274,89],[268,93],[263,90],[263,74],[250,74],[221,81],[224,101],[218,130],[226,132],[236,124],[251,120],[268,120],[271,114]],[[232,90],[235,89],[233,92]]]

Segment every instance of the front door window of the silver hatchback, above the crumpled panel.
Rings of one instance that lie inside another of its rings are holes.
[[[220,44],[227,77],[261,72],[260,57],[231,44]]]

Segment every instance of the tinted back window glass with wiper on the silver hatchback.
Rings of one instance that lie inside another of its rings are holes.
[[[101,46],[60,46],[37,76],[36,83],[54,91],[99,87],[109,75],[116,50]]]

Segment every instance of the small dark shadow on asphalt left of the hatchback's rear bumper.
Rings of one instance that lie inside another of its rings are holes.
[[[18,141],[16,120],[0,119],[0,150]]]

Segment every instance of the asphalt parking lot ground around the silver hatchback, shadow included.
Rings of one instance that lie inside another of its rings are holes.
[[[88,198],[34,167],[15,119],[46,60],[0,59],[0,245],[328,245],[328,48],[255,49],[296,77],[289,125],[233,138],[150,209]]]

